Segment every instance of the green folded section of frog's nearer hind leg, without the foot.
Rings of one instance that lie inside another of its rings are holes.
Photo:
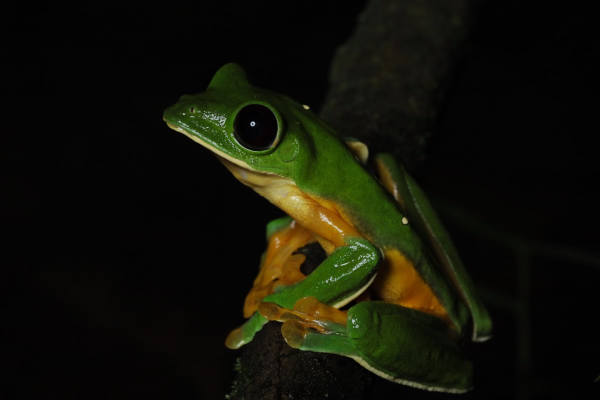
[[[348,311],[355,360],[388,380],[440,392],[472,387],[472,363],[439,318],[386,302],[362,302]],[[352,323],[350,323],[352,321]]]

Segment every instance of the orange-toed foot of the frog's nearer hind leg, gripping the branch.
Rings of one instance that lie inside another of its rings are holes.
[[[283,322],[281,334],[293,348],[318,351],[305,346],[307,338],[315,335],[347,336],[347,312],[319,302],[314,297],[298,300],[293,309],[262,302],[259,312],[268,320]]]

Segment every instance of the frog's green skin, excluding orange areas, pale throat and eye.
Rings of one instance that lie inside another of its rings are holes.
[[[233,134],[233,121],[248,104],[268,107],[277,119],[277,139],[266,149],[248,149]],[[313,296],[339,308],[373,281],[382,249],[397,249],[412,261],[455,326],[452,333],[433,315],[367,301],[349,309],[347,326],[324,320],[333,333],[309,330],[295,347],[352,357],[382,377],[422,389],[457,393],[470,389],[472,365],[463,359],[456,336],[485,340],[491,333],[490,317],[425,194],[391,157],[378,156],[398,187],[403,207],[322,119],[289,97],[250,85],[236,64],[221,67],[205,92],[181,97],[165,110],[164,120],[221,161],[227,160],[226,166],[236,164],[262,176],[264,182],[284,178],[302,193],[331,201],[361,233],[362,237],[345,237],[345,245],[335,248],[313,273],[278,288],[264,302],[292,309],[297,300]],[[236,177],[280,204],[277,191]],[[298,220],[298,209],[282,208]],[[410,224],[403,223],[405,216]],[[274,221],[268,231],[287,223]],[[267,321],[258,311],[248,318],[235,347],[251,341]]]

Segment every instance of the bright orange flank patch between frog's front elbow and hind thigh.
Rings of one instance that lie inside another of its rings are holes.
[[[448,312],[413,264],[399,251],[385,251],[385,260],[371,285],[373,297],[417,309],[451,323]]]

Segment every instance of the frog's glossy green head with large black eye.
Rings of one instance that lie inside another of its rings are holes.
[[[307,106],[248,83],[233,63],[217,71],[205,92],[182,96],[163,119],[214,152],[232,172],[289,179],[299,154],[309,160],[314,152],[310,128],[323,124]]]

